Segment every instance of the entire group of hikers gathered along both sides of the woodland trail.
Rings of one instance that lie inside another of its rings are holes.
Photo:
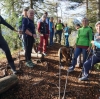
[[[25,50],[25,65],[28,67],[34,67],[35,64],[31,60],[31,52],[33,44],[35,43],[35,39],[37,38],[36,28],[34,24],[34,10],[25,8],[23,10],[23,15],[19,19],[19,30],[17,31],[11,25],[9,25],[1,16],[0,16],[0,24],[3,24],[14,30],[20,34],[22,34],[22,46]],[[38,53],[47,55],[47,47],[51,47],[54,43],[54,35],[55,42],[61,44],[62,32],[64,32],[65,36],[65,46],[69,47],[69,27],[67,24],[61,23],[61,20],[58,20],[58,23],[54,25],[53,17],[48,18],[48,13],[45,12],[42,17],[37,22],[37,31],[39,35],[39,45],[38,45]],[[67,70],[68,72],[73,72],[75,66],[77,64],[78,59],[80,58],[80,54],[83,54],[83,68],[82,68],[82,77],[79,78],[80,81],[88,80],[89,70],[94,64],[100,62],[100,21],[95,24],[96,32],[93,40],[93,31],[89,26],[89,21],[87,18],[82,19],[82,27],[77,24],[77,38],[75,42],[76,48],[74,48],[74,56],[72,59],[71,66]],[[50,39],[50,42],[48,41]],[[11,66],[11,70],[14,74],[19,73],[16,70],[14,61],[11,56],[11,52],[9,50],[8,44],[0,34],[0,48],[2,48],[6,54],[8,63]],[[87,59],[88,53],[93,48],[93,55]]]

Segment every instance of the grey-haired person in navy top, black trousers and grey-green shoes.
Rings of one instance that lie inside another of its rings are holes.
[[[29,9],[27,12],[28,18],[24,18],[22,22],[22,29],[24,33],[24,41],[25,41],[25,59],[26,59],[26,66],[33,67],[35,64],[31,60],[31,53],[33,43],[35,42],[36,31],[35,25],[33,22],[34,18],[34,10]]]

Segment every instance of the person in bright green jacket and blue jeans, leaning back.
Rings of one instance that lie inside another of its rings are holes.
[[[81,53],[83,54],[83,63],[86,61],[87,53],[90,51],[91,48],[92,30],[88,26],[87,18],[83,18],[82,25],[83,27],[78,30],[76,49],[74,51],[74,57],[72,59],[72,64],[71,67],[69,67],[68,72],[74,71],[75,65],[77,63],[77,57]]]

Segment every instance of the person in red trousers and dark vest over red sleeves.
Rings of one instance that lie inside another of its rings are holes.
[[[38,33],[40,36],[40,44],[38,47],[38,53],[43,53],[44,56],[46,56],[46,51],[47,51],[47,41],[48,41],[48,36],[49,36],[49,26],[46,23],[46,16],[42,16],[42,21],[38,24]]]

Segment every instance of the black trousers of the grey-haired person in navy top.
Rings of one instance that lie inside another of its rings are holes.
[[[25,41],[25,60],[29,61],[31,60],[31,53],[32,53],[34,38],[31,36],[24,37],[24,41]]]

